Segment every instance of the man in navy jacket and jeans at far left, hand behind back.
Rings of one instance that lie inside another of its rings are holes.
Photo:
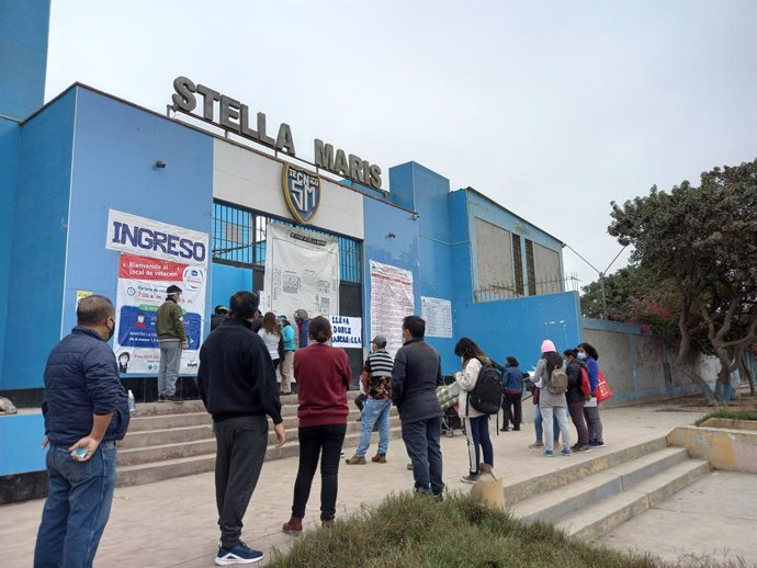
[[[115,442],[128,428],[128,401],[108,340],[113,304],[83,298],[77,327],[53,349],[45,367],[45,440],[49,496],[34,567],[92,566],[115,485]]]

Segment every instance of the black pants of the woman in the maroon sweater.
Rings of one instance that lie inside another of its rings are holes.
[[[337,489],[341,445],[347,424],[325,424],[298,429],[300,468],[294,481],[292,516],[305,516],[310,487],[320,457],[320,520],[331,521],[337,512]],[[321,455],[323,454],[323,455]]]

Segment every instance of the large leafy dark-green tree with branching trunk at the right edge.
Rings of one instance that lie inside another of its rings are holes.
[[[715,168],[669,193],[612,202],[610,235],[633,245],[631,260],[669,288],[677,316],[677,367],[709,404],[757,340],[757,160]],[[701,350],[721,362],[715,393],[689,364]]]

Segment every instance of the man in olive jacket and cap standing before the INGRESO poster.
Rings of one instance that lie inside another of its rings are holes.
[[[166,302],[158,308],[156,330],[160,345],[158,367],[158,402],[181,402],[177,397],[177,379],[181,367],[181,351],[189,348],[184,330],[184,314],[179,306],[181,288],[171,284],[166,289]]]

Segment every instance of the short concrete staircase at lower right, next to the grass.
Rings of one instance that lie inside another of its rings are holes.
[[[509,512],[527,523],[594,541],[709,472],[708,461],[660,438],[515,484],[505,498]]]

